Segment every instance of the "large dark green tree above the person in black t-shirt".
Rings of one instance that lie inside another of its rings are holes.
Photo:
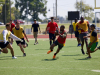
[[[28,9],[27,9],[28,2]],[[20,8],[20,18],[27,18],[27,10],[28,14],[32,16],[33,19],[40,20],[39,14],[43,14],[46,16],[46,0],[15,0],[15,7],[17,9]]]

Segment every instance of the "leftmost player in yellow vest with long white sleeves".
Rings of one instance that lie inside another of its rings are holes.
[[[12,54],[12,59],[16,59],[17,57],[14,56],[14,50],[13,50],[13,47],[11,46],[11,44],[9,43],[8,38],[11,37],[12,39],[15,39],[15,40],[20,40],[20,41],[23,41],[23,40],[16,37],[15,35],[13,35],[10,32],[10,29],[11,29],[11,25],[10,25],[10,23],[7,23],[6,29],[0,33],[0,48],[1,48],[0,53],[1,52],[8,53],[8,49],[10,49],[11,54]]]

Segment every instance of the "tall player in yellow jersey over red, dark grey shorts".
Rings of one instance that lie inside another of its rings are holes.
[[[83,46],[84,46],[84,41],[85,41],[86,48],[88,47],[88,38],[83,38],[83,37],[87,36],[88,28],[90,28],[90,27],[89,27],[89,22],[84,20],[84,17],[81,17],[80,19],[81,20],[77,23],[77,28],[79,30],[79,37],[82,42],[81,43],[81,51],[82,51],[82,54],[85,54]]]

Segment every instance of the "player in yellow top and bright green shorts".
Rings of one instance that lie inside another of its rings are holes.
[[[91,55],[90,53],[93,53],[95,52],[97,49],[97,45],[98,45],[98,35],[97,35],[97,32],[95,31],[95,25],[92,24],[91,25],[91,33],[90,33],[90,36],[84,36],[84,38],[86,37],[90,37],[90,43],[88,45],[88,48],[87,48],[87,54],[89,55],[87,58],[91,58]]]

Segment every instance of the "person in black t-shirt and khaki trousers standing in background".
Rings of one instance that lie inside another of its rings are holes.
[[[32,29],[33,29],[33,36],[34,36],[34,38],[35,38],[35,43],[34,43],[34,45],[38,44],[38,41],[37,41],[37,37],[38,37],[38,28],[39,28],[39,31],[41,32],[39,24],[36,23],[36,19],[34,19],[34,23],[32,24],[32,27],[31,27],[31,32],[32,32]]]

